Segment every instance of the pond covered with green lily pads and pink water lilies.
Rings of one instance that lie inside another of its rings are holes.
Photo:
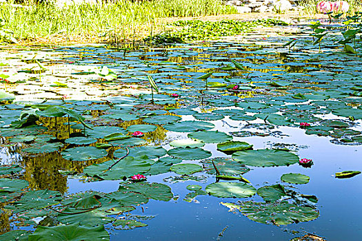
[[[284,28],[3,46],[0,239],[359,240],[361,54]]]

